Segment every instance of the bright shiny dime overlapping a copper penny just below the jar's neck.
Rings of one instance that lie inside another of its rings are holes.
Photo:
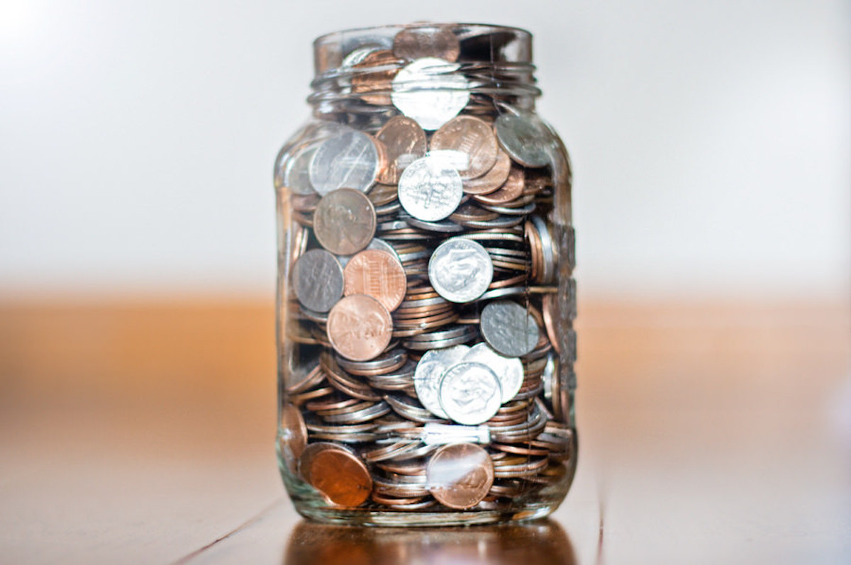
[[[464,197],[464,185],[454,168],[423,157],[408,165],[399,178],[399,203],[408,214],[425,221],[447,218]]]

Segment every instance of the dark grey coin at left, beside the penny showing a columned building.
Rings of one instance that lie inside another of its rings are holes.
[[[293,288],[307,309],[327,312],[343,295],[343,267],[328,251],[311,249],[293,265]]]

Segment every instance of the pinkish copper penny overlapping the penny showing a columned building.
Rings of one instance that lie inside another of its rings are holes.
[[[390,312],[366,294],[346,296],[328,312],[328,340],[351,361],[378,357],[390,344],[392,331]]]

